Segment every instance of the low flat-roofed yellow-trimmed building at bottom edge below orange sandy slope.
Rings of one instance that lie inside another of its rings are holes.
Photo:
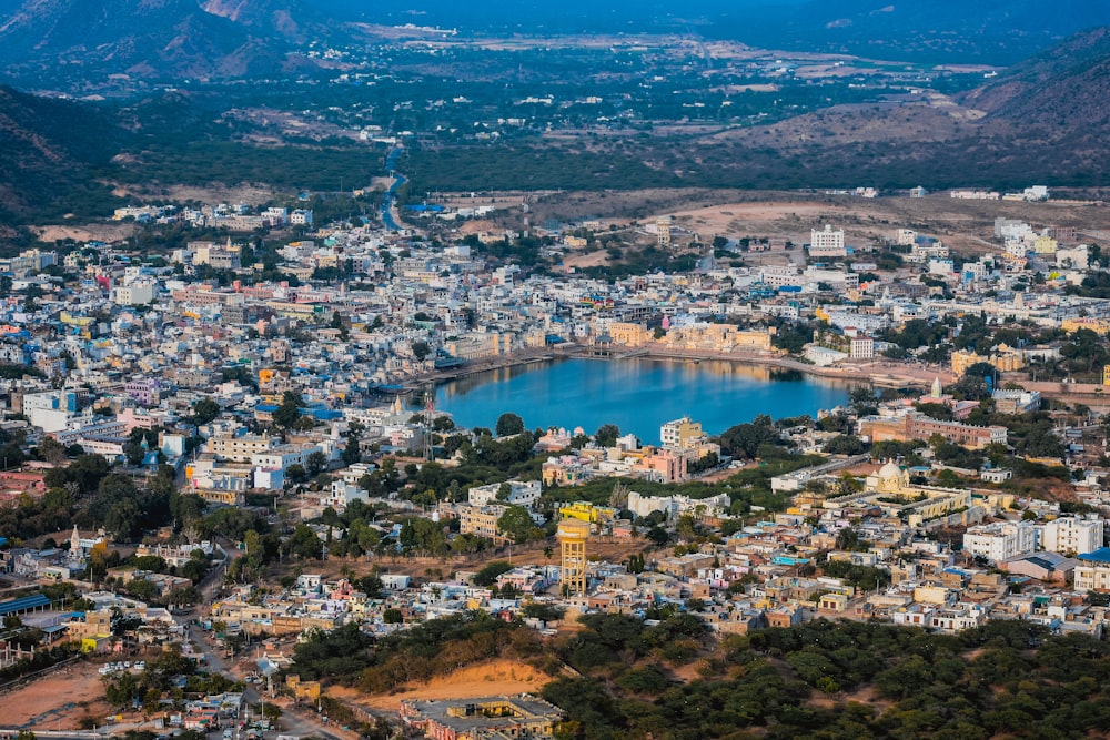
[[[401,721],[433,740],[553,738],[563,720],[557,707],[526,693],[450,701],[403,700]]]

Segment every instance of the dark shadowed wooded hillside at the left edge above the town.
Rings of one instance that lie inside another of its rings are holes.
[[[0,85],[0,215],[18,222],[32,212],[88,214],[103,207],[111,194],[97,181],[97,170],[111,161],[123,138],[94,105]]]

